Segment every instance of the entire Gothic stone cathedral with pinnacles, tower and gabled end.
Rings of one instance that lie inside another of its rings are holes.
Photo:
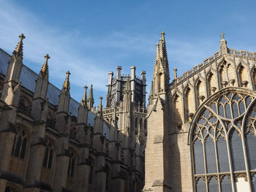
[[[38,74],[23,64],[21,34],[0,49],[0,192],[256,192],[256,52],[224,35],[170,80],[162,32],[148,101],[146,72],[117,66],[96,108],[93,85],[70,97],[70,72],[49,82],[48,54]]]

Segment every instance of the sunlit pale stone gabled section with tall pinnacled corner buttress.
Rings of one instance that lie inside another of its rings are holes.
[[[256,191],[256,53],[227,47],[170,82],[165,34],[148,105],[143,191]]]

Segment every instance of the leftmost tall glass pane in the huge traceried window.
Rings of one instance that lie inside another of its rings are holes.
[[[194,143],[194,163],[195,163],[195,174],[205,173],[204,162],[203,162],[203,145],[198,139]]]

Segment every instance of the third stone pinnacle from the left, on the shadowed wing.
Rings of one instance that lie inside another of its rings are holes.
[[[64,85],[61,90],[61,94],[59,95],[59,105],[58,105],[58,112],[69,112],[69,99],[70,99],[70,85],[69,85],[69,75],[70,72],[68,71],[66,76],[66,80],[64,81]]]

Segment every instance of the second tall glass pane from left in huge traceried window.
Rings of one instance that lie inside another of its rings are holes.
[[[206,139],[206,167],[208,173],[217,172],[214,141],[211,137]]]

